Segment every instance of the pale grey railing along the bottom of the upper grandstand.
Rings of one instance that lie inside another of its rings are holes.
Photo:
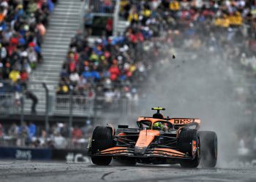
[[[15,96],[17,95],[17,97]],[[38,95],[37,95],[38,96]],[[42,97],[38,98],[42,102]],[[46,99],[45,99],[46,100]],[[49,103],[45,106],[50,110],[50,115],[69,116],[100,116],[101,114],[114,114],[116,116],[127,116],[132,106],[133,100],[128,98],[115,98],[105,95],[104,97],[88,97],[83,95],[51,95]],[[45,102],[45,101],[44,101]],[[12,114],[20,114],[23,121],[24,114],[30,114],[32,101],[26,98],[26,95],[18,92],[2,92],[0,93],[0,114],[8,116]],[[41,107],[41,106],[40,106]],[[39,107],[39,108],[40,108]],[[38,112],[37,114],[41,114]],[[46,114],[45,111],[42,112]],[[46,114],[47,115],[47,114]]]

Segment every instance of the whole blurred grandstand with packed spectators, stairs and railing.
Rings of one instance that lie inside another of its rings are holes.
[[[5,123],[61,122],[71,130],[73,120],[82,125],[86,119],[135,114],[150,97],[143,90],[157,82],[152,70],[164,70],[173,54],[180,60],[224,60],[240,73],[238,84],[253,92],[255,1],[42,2],[1,1]],[[249,97],[238,96],[241,102]]]

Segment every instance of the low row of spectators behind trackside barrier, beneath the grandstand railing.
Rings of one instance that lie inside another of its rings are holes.
[[[27,146],[31,148],[53,149],[84,149],[92,134],[91,121],[89,119],[80,127],[75,125],[71,129],[65,122],[56,122],[45,132],[42,126],[34,122],[21,122],[20,125],[13,122],[11,125],[0,123],[0,146]],[[71,138],[70,138],[71,137]]]

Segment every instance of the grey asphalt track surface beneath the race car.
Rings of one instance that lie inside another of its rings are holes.
[[[184,169],[167,165],[98,167],[84,163],[0,161],[0,181],[256,181],[256,168]]]

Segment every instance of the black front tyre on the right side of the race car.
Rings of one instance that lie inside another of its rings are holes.
[[[178,149],[188,154],[189,156],[193,156],[192,151],[192,143],[193,141],[196,142],[197,150],[195,151],[195,157],[192,160],[184,160],[180,162],[181,167],[189,167],[195,168],[200,163],[200,138],[195,129],[187,129],[181,130],[179,137],[178,137]]]

